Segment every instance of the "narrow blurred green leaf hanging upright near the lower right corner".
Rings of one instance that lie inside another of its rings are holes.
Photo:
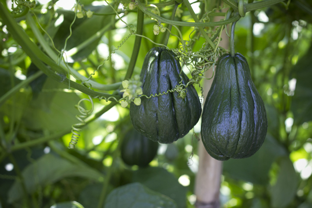
[[[277,182],[270,189],[273,208],[286,207],[294,199],[297,192],[297,176],[289,157],[281,157],[279,164],[280,172]]]

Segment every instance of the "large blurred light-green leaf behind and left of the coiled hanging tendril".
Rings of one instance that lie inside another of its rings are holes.
[[[80,122],[75,117],[79,111],[74,107],[79,100],[76,93],[63,91],[62,84],[48,78],[42,92],[26,110],[24,125],[33,130],[59,131],[68,128]]]

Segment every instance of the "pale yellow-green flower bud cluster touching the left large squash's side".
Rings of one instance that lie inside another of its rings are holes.
[[[139,96],[143,94],[143,91],[141,88],[142,82],[140,81],[140,76],[135,75],[133,79],[129,81],[125,80],[122,84],[124,89],[120,91],[124,92],[123,98],[125,98],[125,100],[122,100],[122,107],[127,107],[131,102],[134,102],[135,105],[141,105],[141,98]]]

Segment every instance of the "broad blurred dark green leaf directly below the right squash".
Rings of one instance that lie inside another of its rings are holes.
[[[277,157],[286,155],[286,150],[267,134],[262,147],[251,157],[224,161],[223,170],[231,178],[265,185],[269,182],[268,173]]]

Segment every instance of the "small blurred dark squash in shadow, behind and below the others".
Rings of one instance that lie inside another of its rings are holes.
[[[121,156],[125,164],[147,166],[156,156],[158,142],[146,138],[136,130],[128,131],[121,146]]]

